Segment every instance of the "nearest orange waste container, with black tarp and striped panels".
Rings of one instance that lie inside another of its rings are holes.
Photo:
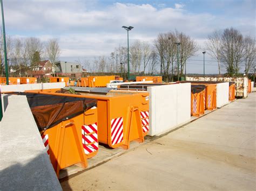
[[[86,159],[96,155],[97,100],[68,96],[26,95],[53,168],[77,164],[86,168]]]

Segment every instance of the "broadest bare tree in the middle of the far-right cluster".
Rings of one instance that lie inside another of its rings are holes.
[[[244,40],[238,30],[231,27],[221,34],[220,58],[229,75],[238,75],[245,55],[244,48]]]

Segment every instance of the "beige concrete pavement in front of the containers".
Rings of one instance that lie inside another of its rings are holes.
[[[133,148],[64,190],[255,190],[256,93]]]

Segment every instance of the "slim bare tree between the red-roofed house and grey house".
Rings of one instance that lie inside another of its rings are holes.
[[[54,67],[53,73],[55,76],[55,74],[57,72],[55,62],[58,61],[59,55],[60,55],[58,39],[53,38],[53,39],[48,40],[48,42],[46,43],[46,46],[45,46],[45,53],[46,53],[46,58],[48,58],[51,61],[52,65]]]

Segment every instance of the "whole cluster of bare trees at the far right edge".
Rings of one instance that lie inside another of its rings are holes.
[[[206,48],[213,59],[218,61],[220,74],[221,66],[227,74],[238,75],[242,66],[245,74],[254,70],[256,47],[255,39],[242,34],[233,28],[224,31],[214,31],[206,42]]]

